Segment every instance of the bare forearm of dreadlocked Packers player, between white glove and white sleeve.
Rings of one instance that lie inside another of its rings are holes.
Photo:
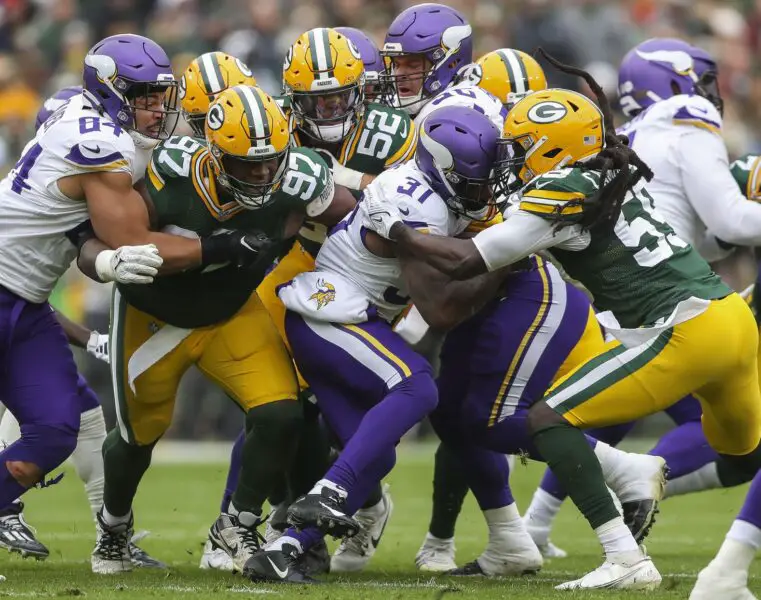
[[[470,279],[487,270],[471,240],[426,235],[403,223],[394,225],[390,233],[400,254],[422,260],[451,279]]]

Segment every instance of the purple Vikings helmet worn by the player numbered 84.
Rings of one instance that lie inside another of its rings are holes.
[[[180,115],[177,81],[169,57],[156,42],[133,34],[101,40],[85,56],[83,81],[85,96],[136,142],[150,146],[172,135]],[[162,95],[160,103],[154,94]],[[161,120],[149,131],[137,131],[138,110],[160,114]]]

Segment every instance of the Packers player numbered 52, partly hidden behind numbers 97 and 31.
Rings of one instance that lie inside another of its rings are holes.
[[[328,28],[302,34],[283,65],[284,103],[294,123],[296,144],[318,150],[332,163],[336,184],[357,194],[386,169],[409,160],[417,146],[417,129],[406,113],[365,102],[364,71],[351,40]],[[314,258],[326,235],[324,225],[307,220],[298,242],[257,288],[283,339],[285,307],[275,290],[299,273],[314,269]],[[306,388],[303,380],[300,383]],[[314,456],[316,453],[312,459]],[[324,465],[316,468],[316,476],[324,471]],[[300,493],[306,493],[312,483]],[[358,514],[366,527],[353,541],[348,540],[350,547],[339,549],[340,558],[331,562],[333,571],[357,570],[369,560],[375,550],[371,539],[380,538],[391,507],[390,496],[380,488],[371,494],[367,508]]]

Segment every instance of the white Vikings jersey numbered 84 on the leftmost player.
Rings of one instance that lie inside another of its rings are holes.
[[[0,181],[0,285],[45,302],[76,257],[67,233],[89,219],[87,203],[62,194],[59,179],[109,171],[130,173],[135,182],[149,159],[150,151],[136,151],[129,132],[83,95],[60,107]]]

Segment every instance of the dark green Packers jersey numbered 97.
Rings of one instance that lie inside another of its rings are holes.
[[[146,184],[159,231],[206,237],[217,230],[257,229],[275,243],[276,258],[289,240],[284,229],[292,211],[333,194],[333,176],[313,150],[294,148],[273,198],[264,208],[248,210],[217,185],[203,140],[175,136],[159,144],[146,174]],[[265,261],[266,262],[266,261]],[[157,277],[150,285],[120,285],[135,308],[183,328],[205,327],[232,317],[259,285],[264,273],[230,264],[211,265]]]

